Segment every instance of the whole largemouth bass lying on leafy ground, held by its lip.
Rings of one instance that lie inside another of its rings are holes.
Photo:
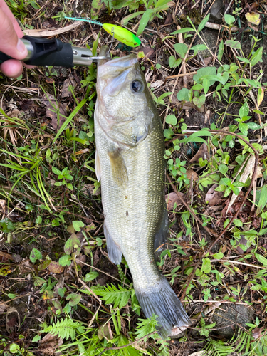
[[[168,227],[162,123],[135,55],[98,66],[97,92],[95,172],[108,255],[119,264],[123,253],[145,316],[157,315],[166,338],[190,320],[154,259]]]

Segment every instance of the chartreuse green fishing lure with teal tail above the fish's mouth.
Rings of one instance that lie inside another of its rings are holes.
[[[102,26],[105,31],[107,31],[111,36],[116,38],[117,41],[120,41],[124,43],[127,46],[130,47],[137,47],[140,46],[141,41],[140,39],[135,36],[135,33],[132,33],[131,31],[127,30],[126,28],[122,28],[117,25],[113,25],[112,23],[101,23],[99,21],[95,21],[92,19],[85,19],[83,17],[81,18],[75,18],[75,17],[66,17],[65,19],[69,20],[74,20],[74,21],[86,21],[90,23],[95,23],[95,25]]]

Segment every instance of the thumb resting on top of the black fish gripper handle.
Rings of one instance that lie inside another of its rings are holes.
[[[19,39],[14,29],[11,19],[6,16],[0,8],[0,51],[15,59],[23,59],[27,56],[27,49],[24,43]]]

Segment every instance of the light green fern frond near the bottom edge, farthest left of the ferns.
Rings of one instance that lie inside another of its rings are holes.
[[[58,320],[57,323],[48,326],[42,330],[42,333],[51,333],[51,335],[58,335],[61,339],[66,339],[70,337],[71,340],[75,339],[76,333],[81,334],[85,332],[85,328],[81,323],[74,322],[70,318]]]

